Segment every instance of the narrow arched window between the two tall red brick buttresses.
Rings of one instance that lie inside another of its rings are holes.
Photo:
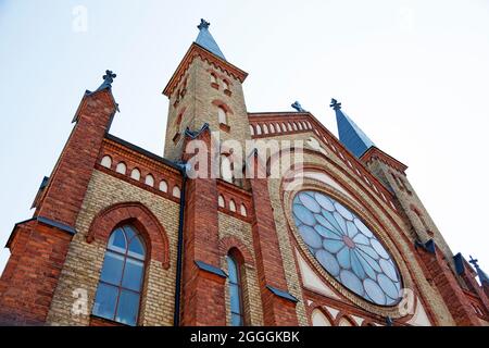
[[[231,326],[244,325],[242,311],[242,295],[241,295],[241,274],[239,272],[239,264],[235,257],[227,254],[227,272],[229,274],[229,303]]]

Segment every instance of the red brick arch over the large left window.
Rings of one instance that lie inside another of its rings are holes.
[[[108,243],[111,233],[122,223],[131,223],[147,241],[150,259],[170,268],[170,243],[164,227],[156,216],[142,203],[124,202],[103,209],[91,222],[87,243],[98,239]]]

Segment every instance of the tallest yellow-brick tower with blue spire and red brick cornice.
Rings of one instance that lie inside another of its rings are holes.
[[[168,97],[164,156],[179,160],[184,134],[208,123],[222,140],[251,138],[241,84],[248,74],[229,63],[201,20],[199,35],[163,94]]]

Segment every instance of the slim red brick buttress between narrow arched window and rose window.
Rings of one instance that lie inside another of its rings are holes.
[[[296,326],[299,324],[296,300],[287,293],[284,261],[268,194],[268,181],[264,173],[265,165],[260,164],[256,154],[250,160],[254,161],[256,171],[254,178],[250,178],[250,186],[254,207],[253,247],[263,302],[263,322],[271,326]]]

